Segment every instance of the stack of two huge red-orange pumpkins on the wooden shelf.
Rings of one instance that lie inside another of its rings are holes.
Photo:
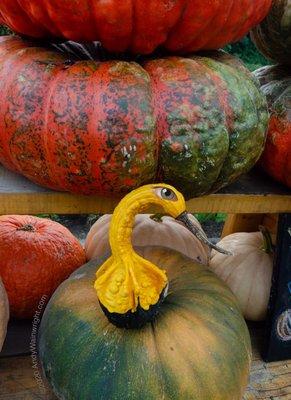
[[[0,162],[75,193],[164,181],[192,197],[228,185],[262,153],[265,98],[237,59],[193,52],[238,40],[270,2],[1,1],[3,22],[37,42],[0,41]],[[56,50],[48,38],[100,40],[127,57],[100,62],[96,46]],[[134,57],[156,49],[189,55]]]

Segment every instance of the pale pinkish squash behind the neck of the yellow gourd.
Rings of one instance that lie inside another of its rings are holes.
[[[202,230],[193,215],[189,214],[189,218]],[[110,251],[108,239],[110,221],[111,215],[103,215],[90,229],[85,243],[88,260],[102,257]],[[181,222],[167,216],[153,219],[150,214],[137,215],[133,230],[133,244],[136,247],[167,247],[205,265],[208,265],[210,258],[207,245],[201,243]]]

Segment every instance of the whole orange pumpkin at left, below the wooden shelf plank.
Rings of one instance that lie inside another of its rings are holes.
[[[10,314],[31,318],[43,296],[55,289],[85,261],[78,240],[61,224],[31,216],[0,217],[0,276]],[[42,304],[42,308],[44,305]]]

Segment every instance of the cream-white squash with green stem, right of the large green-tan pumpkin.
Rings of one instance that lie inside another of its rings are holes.
[[[243,315],[251,321],[266,317],[273,274],[273,253],[266,233],[234,233],[218,245],[233,255],[211,253],[210,269],[236,295]]]

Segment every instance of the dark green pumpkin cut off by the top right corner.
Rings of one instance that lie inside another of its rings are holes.
[[[266,57],[291,65],[291,0],[273,0],[271,12],[252,36]]]

